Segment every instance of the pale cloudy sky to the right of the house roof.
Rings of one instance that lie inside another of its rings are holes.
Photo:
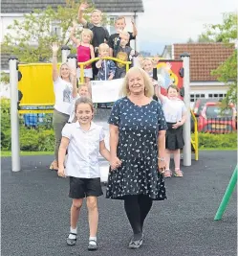
[[[162,54],[164,45],[197,39],[204,24],[222,22],[223,12],[237,12],[236,0],[143,0],[138,20],[140,50]]]

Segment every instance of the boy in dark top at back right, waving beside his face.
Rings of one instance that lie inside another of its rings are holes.
[[[128,32],[130,37],[129,37],[129,41],[128,41],[126,46],[130,46],[130,40],[136,39],[136,36],[138,35],[138,31],[137,31],[137,28],[136,28],[136,25],[134,23],[133,18],[132,18],[131,22],[132,22],[132,26],[133,26],[133,32],[132,33]],[[119,34],[124,30],[125,26],[126,26],[125,17],[124,16],[119,16],[115,21],[115,29],[116,29],[117,33],[113,34],[113,35],[110,35],[109,40],[108,40],[108,45],[110,47],[110,56],[111,57],[113,57],[113,51],[115,49],[115,46],[118,44]]]

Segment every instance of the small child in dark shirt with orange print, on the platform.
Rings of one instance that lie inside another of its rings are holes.
[[[113,51],[113,57],[119,58],[120,60],[129,61],[130,58],[136,56],[136,52],[130,47],[127,46],[129,42],[130,35],[127,32],[121,32],[119,34],[119,40],[117,45],[115,45]],[[117,69],[115,74],[115,79],[121,79],[125,77],[125,64],[117,62]]]

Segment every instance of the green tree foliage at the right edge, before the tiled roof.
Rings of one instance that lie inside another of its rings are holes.
[[[237,42],[237,13],[224,13],[223,23],[206,25],[204,35],[210,40],[224,42],[227,47],[233,46]],[[225,103],[237,103],[237,45],[233,54],[211,74],[229,86]]]

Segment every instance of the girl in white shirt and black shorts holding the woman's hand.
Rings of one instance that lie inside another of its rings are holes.
[[[70,177],[69,197],[73,198],[67,244],[76,244],[78,216],[83,198],[86,198],[90,230],[88,250],[97,250],[97,197],[102,195],[98,152],[106,160],[110,160],[103,129],[92,122],[93,115],[93,103],[89,98],[81,97],[76,100],[75,122],[66,124],[63,128],[58,151],[58,175]],[[68,159],[64,168],[67,150]]]

